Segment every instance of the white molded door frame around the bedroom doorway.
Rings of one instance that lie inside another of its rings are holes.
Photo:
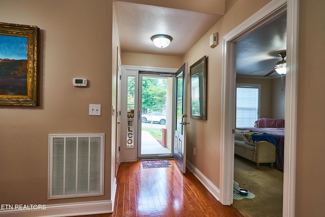
[[[298,0],[274,0],[223,37],[220,202],[233,203],[234,136],[236,96],[236,41],[264,23],[287,12],[285,141],[283,173],[283,216],[295,216],[296,134],[297,134],[297,67],[298,67]]]

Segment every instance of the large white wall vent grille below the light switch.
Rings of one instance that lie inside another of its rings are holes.
[[[103,195],[104,134],[49,135],[49,199]]]

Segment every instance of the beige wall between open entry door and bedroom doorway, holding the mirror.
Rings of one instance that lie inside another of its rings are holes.
[[[231,1],[227,13],[183,57],[191,66],[202,56],[208,57],[207,120],[189,118],[187,127],[187,160],[198,168],[217,188],[220,187],[220,126],[222,37],[270,1]],[[209,37],[218,32],[219,45],[209,47]],[[189,85],[188,85],[189,86]],[[189,88],[188,88],[189,92]],[[190,96],[187,97],[189,102]],[[189,111],[189,104],[187,104]],[[196,156],[192,148],[196,148]]]

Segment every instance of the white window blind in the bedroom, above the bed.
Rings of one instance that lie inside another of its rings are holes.
[[[237,84],[236,128],[254,127],[259,117],[259,84]]]

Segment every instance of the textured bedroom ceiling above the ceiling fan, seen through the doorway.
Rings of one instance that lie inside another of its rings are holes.
[[[237,75],[268,74],[276,62],[282,60],[278,54],[286,50],[286,14],[246,35],[236,47]],[[266,70],[258,71],[261,69]],[[278,74],[273,73],[272,76]]]

